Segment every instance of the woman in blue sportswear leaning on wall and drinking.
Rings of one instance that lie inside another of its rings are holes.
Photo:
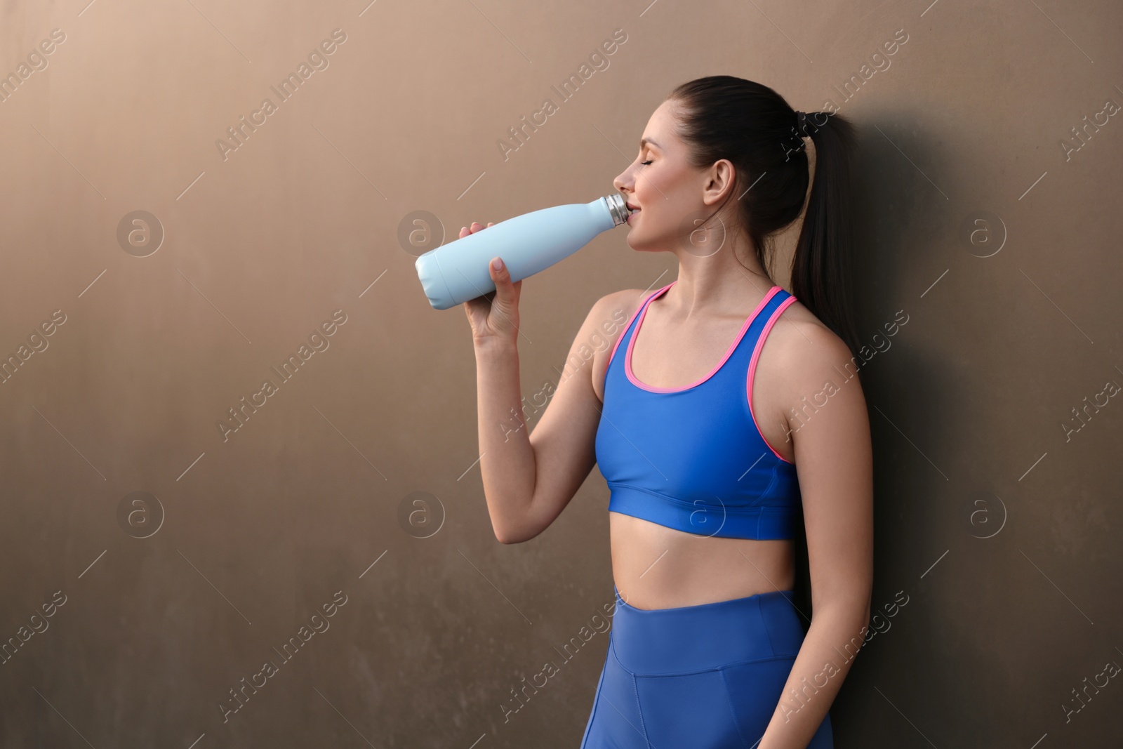
[[[532,433],[511,427],[521,281],[495,258],[495,292],[465,303],[496,538],[542,532],[593,465],[611,488],[615,610],[586,749],[832,746],[873,577],[869,423],[848,375],[852,141],[751,81],[675,89],[614,185],[629,246],[673,253],[677,280],[593,304]],[[768,239],[805,198],[789,294]],[[794,597],[804,533],[813,614]]]

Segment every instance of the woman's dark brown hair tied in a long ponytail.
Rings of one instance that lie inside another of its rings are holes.
[[[722,158],[732,163],[736,183],[727,202],[738,201],[741,228],[757,261],[772,268],[768,239],[800,217],[811,180],[796,110],[768,86],[732,75],[688,81],[667,99],[679,104],[677,133],[691,149],[694,167],[706,168]],[[815,179],[792,262],[792,294],[853,353],[858,340],[849,272],[855,128],[830,112],[807,112],[805,124],[804,133],[815,146]]]

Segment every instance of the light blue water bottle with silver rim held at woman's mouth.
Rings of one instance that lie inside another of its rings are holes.
[[[521,281],[624,223],[629,214],[623,195],[612,194],[515,216],[419,256],[418,277],[433,309],[447,310],[495,291],[491,258],[503,258],[511,282]]]

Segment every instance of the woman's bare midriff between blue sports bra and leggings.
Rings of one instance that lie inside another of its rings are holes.
[[[637,609],[741,599],[795,584],[794,544],[686,533],[609,512],[612,577]]]

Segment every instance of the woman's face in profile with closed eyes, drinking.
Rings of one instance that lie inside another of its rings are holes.
[[[637,250],[687,248],[692,228],[711,211],[703,198],[712,188],[710,170],[686,161],[686,144],[675,135],[676,103],[667,100],[651,115],[640,140],[639,155],[612,184],[632,208],[628,245]],[[692,221],[697,217],[699,221]]]

